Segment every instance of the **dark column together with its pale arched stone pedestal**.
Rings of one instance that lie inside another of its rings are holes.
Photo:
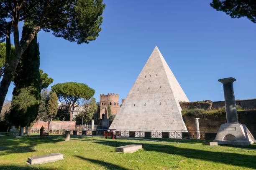
[[[253,138],[253,135],[246,125],[242,125],[238,122],[233,89],[234,81],[236,81],[236,79],[233,77],[219,80],[219,82],[223,83],[227,122],[220,125],[220,129],[213,141],[218,142],[218,144],[227,145],[250,145],[256,143],[256,140]]]

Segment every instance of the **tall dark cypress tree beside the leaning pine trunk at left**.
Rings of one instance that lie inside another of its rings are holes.
[[[26,37],[33,29],[33,24],[25,21],[23,32]],[[21,40],[24,41],[24,40]],[[37,37],[35,37],[20,58],[15,71],[13,100],[10,120],[13,125],[25,127],[38,115],[41,92],[41,78],[39,72],[40,57]]]

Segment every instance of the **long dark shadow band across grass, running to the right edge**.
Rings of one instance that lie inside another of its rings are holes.
[[[146,151],[162,152],[172,155],[180,155],[186,158],[200,159],[216,163],[224,163],[227,165],[234,165],[247,168],[256,168],[255,155],[243,155],[238,153],[225,153],[207,150],[179,148],[173,145],[152,144],[152,143],[134,143],[134,142],[120,142],[118,140],[90,140],[93,143],[108,145],[112,147],[119,147],[123,145],[141,144]],[[205,146],[207,147],[207,146]]]

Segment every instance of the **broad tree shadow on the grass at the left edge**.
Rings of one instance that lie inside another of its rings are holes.
[[[48,138],[40,139],[39,135],[33,136],[24,136],[22,138],[12,138],[12,137],[4,137],[0,138],[0,143],[3,147],[8,147],[8,149],[4,150],[4,154],[11,153],[28,153],[34,152],[35,147],[38,144],[44,143],[57,143],[59,141],[63,141],[64,138],[61,135],[50,135]],[[26,146],[24,146],[26,144]]]

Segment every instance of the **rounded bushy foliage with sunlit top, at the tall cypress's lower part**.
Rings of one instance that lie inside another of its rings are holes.
[[[10,110],[13,125],[25,127],[36,119],[39,107],[36,96],[38,91],[33,86],[15,90]]]

